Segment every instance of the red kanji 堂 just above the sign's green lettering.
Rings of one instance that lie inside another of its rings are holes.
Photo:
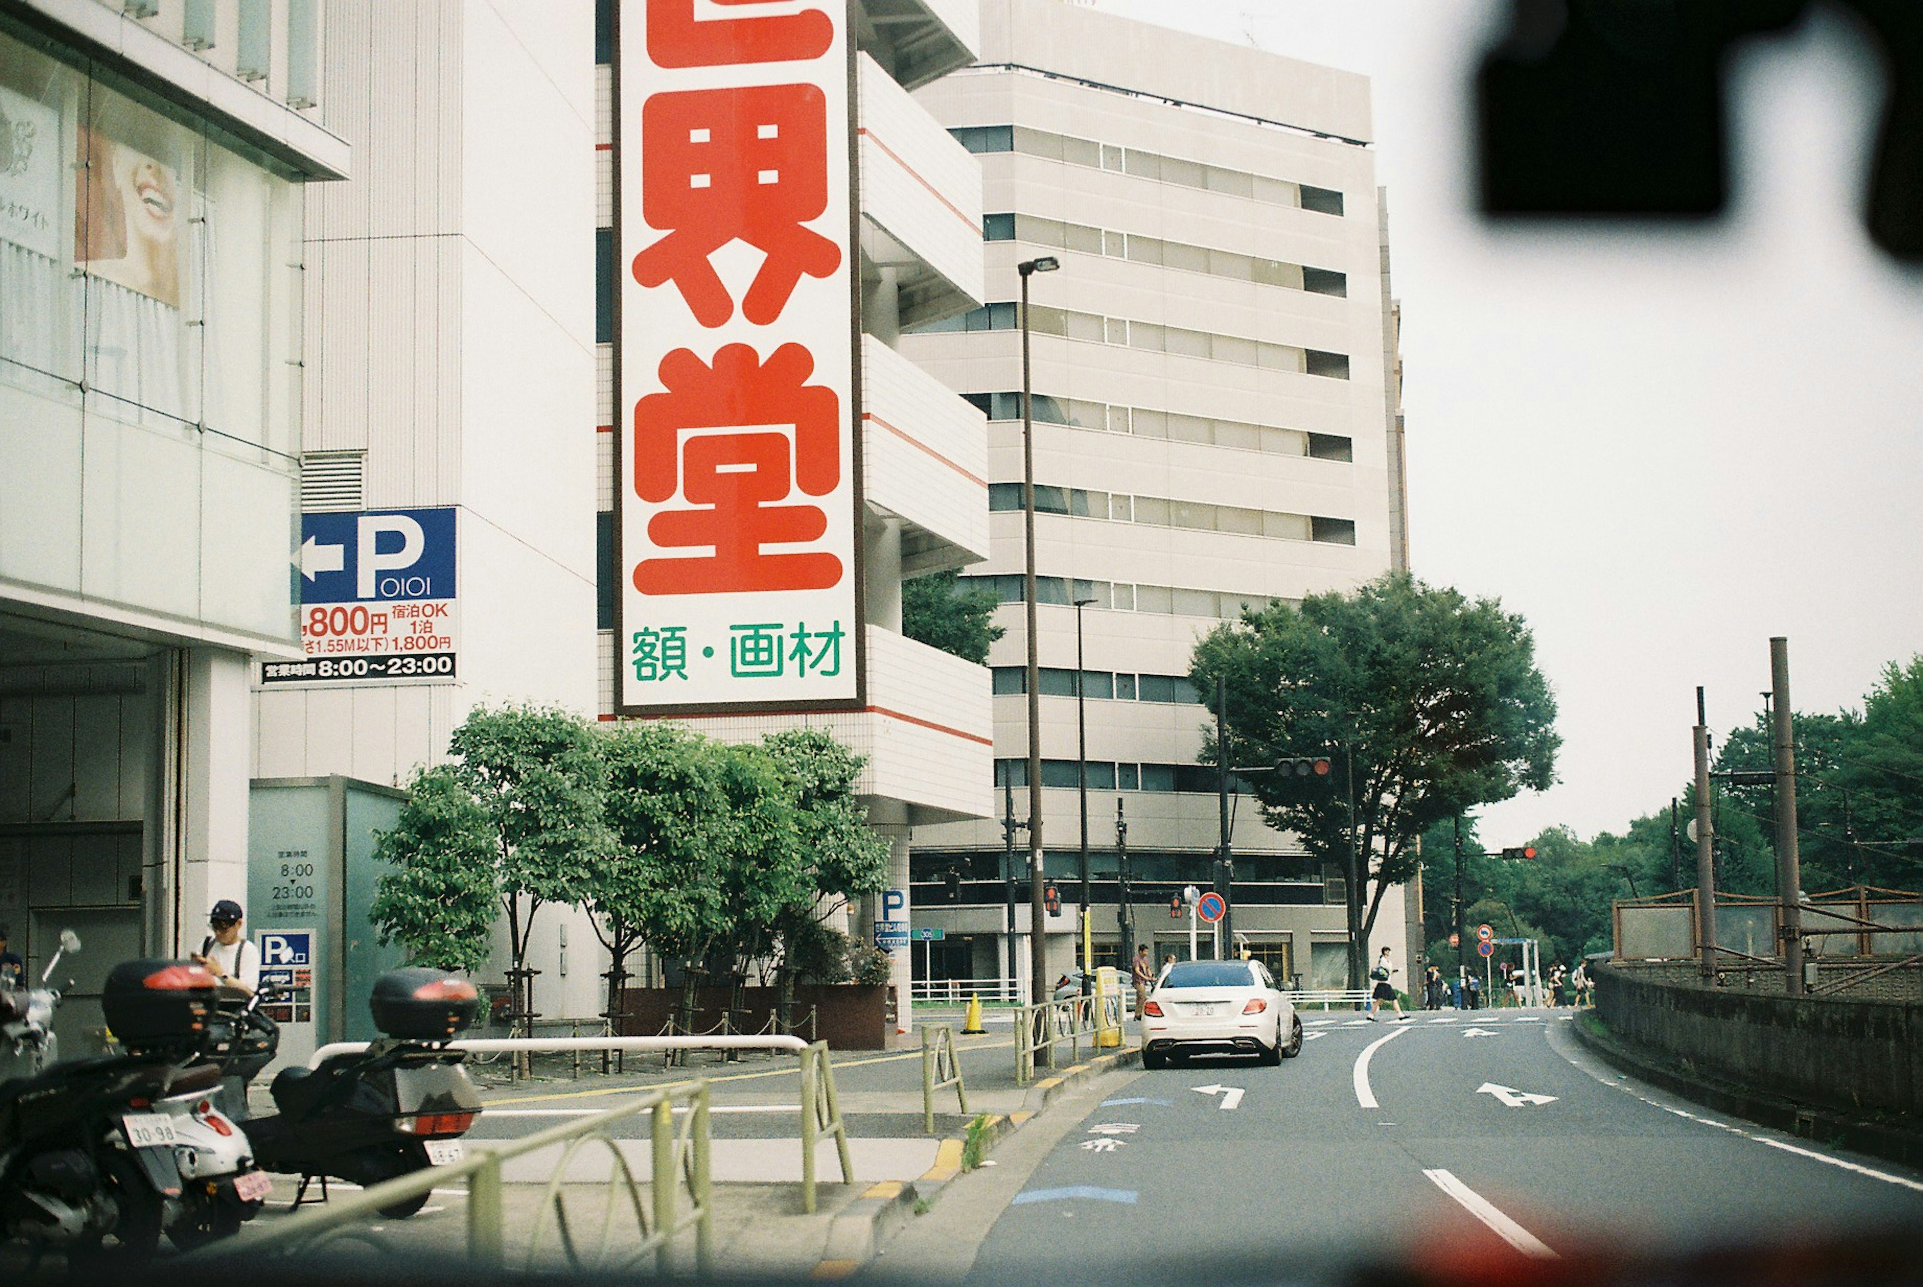
[[[642,594],[721,594],[746,590],[825,590],[842,580],[833,553],[763,553],[762,546],[819,540],[819,505],[773,505],[796,488],[825,496],[840,482],[840,400],[808,384],[813,357],[785,344],[762,363],[746,344],[729,344],[713,367],[688,350],[662,359],[665,394],[635,405],[635,494],[673,499],[677,484],[690,509],[656,513],[656,546],[712,546],[712,557],[644,559],[635,567]],[[792,425],[794,438],[769,432]],[[756,426],[756,428],[748,428]],[[690,428],[738,428],[700,434]],[[683,446],[685,444],[685,446]],[[792,451],[792,473],[790,473]]]

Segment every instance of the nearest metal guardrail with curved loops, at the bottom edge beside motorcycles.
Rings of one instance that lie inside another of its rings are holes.
[[[683,1120],[677,1129],[675,1110],[681,1106]],[[448,1164],[400,1176],[373,1185],[354,1197],[335,1199],[325,1206],[312,1206],[285,1222],[256,1226],[233,1239],[213,1243],[192,1252],[190,1258],[240,1262],[269,1258],[292,1260],[312,1256],[338,1243],[362,1243],[383,1254],[404,1254],[390,1247],[375,1229],[362,1227],[383,1222],[381,1208],[406,1199],[425,1197],[452,1179],[467,1179],[467,1264],[479,1275],[498,1275],[506,1264],[506,1231],[502,1212],[502,1164],[512,1162],[554,1145],[562,1147],[562,1156],[548,1178],[535,1214],[535,1227],[527,1243],[527,1256],[521,1264],[527,1272],[542,1268],[540,1256],[552,1226],[556,1245],[571,1272],[619,1274],[631,1272],[642,1260],[654,1256],[654,1270],[660,1275],[673,1272],[673,1243],[694,1229],[694,1272],[702,1277],[713,1272],[713,1181],[710,1178],[710,1133],[708,1133],[708,1083],[665,1085],[637,1095],[619,1108],[610,1108],[581,1122],[565,1122],[525,1139],[469,1143],[469,1156]],[[650,1118],[652,1168],[650,1189],[642,1195],[640,1179],[629,1168],[627,1154],[612,1129],[638,1116]],[[583,1254],[585,1247],[577,1235],[588,1224],[569,1218],[562,1185],[575,1154],[590,1145],[604,1145],[612,1156],[613,1176],[600,1185],[602,1212],[598,1247],[592,1254]],[[681,1206],[687,1195],[687,1210]],[[621,1208],[635,1214],[640,1239],[633,1247],[615,1247],[617,1214]],[[273,1275],[271,1270],[267,1274]]]

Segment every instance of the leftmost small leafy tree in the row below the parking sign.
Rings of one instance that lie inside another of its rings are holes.
[[[494,924],[494,834],[448,766],[408,784],[394,830],[375,832],[373,855],[392,870],[375,882],[369,920],[381,943],[402,943],[408,964],[473,974],[487,964]]]

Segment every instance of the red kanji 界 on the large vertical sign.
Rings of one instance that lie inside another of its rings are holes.
[[[656,94],[642,108],[640,209],[667,236],[635,255],[635,280],[673,280],[696,321],[733,311],[710,255],[740,238],[767,259],[742,313],[765,327],[794,284],[840,267],[840,246],[808,229],[829,207],[827,98],[813,85]]]

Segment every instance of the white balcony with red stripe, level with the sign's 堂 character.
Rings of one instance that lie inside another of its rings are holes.
[[[902,519],[902,572],[988,557],[988,426],[981,411],[862,336],[862,490]]]

